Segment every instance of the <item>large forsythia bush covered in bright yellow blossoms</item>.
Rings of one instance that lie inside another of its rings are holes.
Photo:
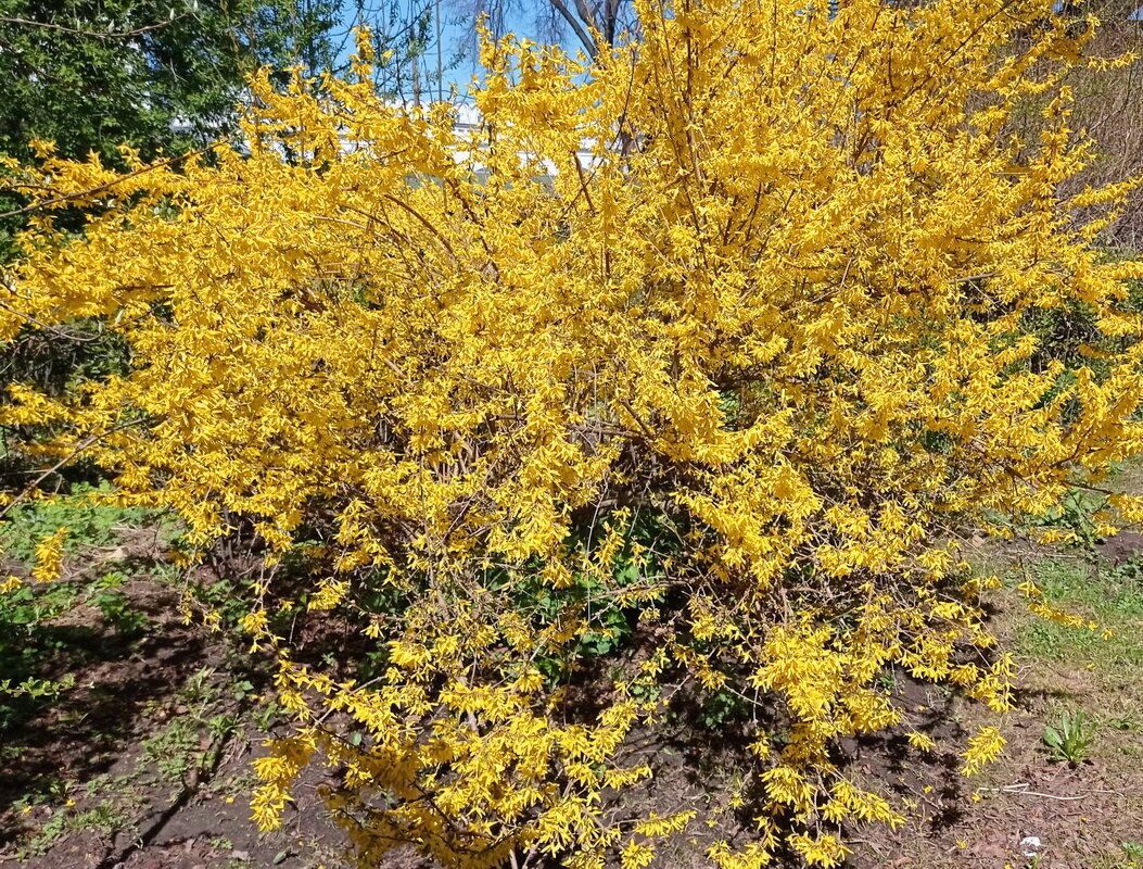
[[[1062,81],[1090,61],[1050,0],[637,5],[592,62],[486,41],[472,131],[381,99],[363,47],[349,80],[254,82],[209,158],[8,167],[41,208],[3,334],[102,321],[131,373],[13,384],[3,422],[50,423],[42,449],[202,550],[256,533],[241,624],[296,730],[255,816],[327,764],[363,866],[402,842],[646,866],[695,816],[613,811],[654,774],[628,747],[664,686],[756,710],[757,840],[711,859],[838,864],[853,824],[902,822],[839,742],[932,743],[888,668],[1009,704],[957,529],[1143,448],[1143,266],[1094,245],[1127,185],[1057,198],[1092,148]],[[66,237],[77,206],[98,216]],[[1044,352],[1064,316],[1080,362]],[[283,559],[379,675],[301,662]],[[964,770],[1002,744],[985,727]]]

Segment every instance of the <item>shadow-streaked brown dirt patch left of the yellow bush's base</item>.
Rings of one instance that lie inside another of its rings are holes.
[[[154,547],[153,534],[133,532],[90,555],[146,563]],[[70,560],[61,582],[83,577]],[[51,630],[71,640],[75,687],[0,733],[0,867],[341,866],[314,781],[299,783],[281,831],[258,834],[249,820],[250,764],[266,734],[251,718],[256,697],[233,693],[232,671],[264,681],[257,662],[235,661],[227,637],[183,624],[176,592],[145,573],[119,590],[147,616],[143,636],[121,635],[90,606],[55,620]],[[219,718],[231,724],[211,730]]]

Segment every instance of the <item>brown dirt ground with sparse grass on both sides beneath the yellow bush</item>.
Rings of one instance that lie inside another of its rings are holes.
[[[1140,550],[1143,536],[1122,535],[1102,555],[1124,563]],[[1000,568],[1045,555],[1042,548],[1015,543],[977,552]],[[263,751],[265,734],[251,718],[256,695],[230,693],[231,643],[182,624],[174,592],[161,583],[142,576],[126,590],[151,619],[145,636],[127,641],[101,625],[94,611],[70,614],[61,629],[69,620],[72,627],[80,622],[95,629],[89,660],[78,673],[80,687],[19,732],[2,734],[19,751],[13,757],[9,750],[0,770],[0,869],[347,866],[344,840],[330,828],[317,794],[323,783],[319,771],[299,783],[282,830],[254,829],[247,805],[250,762]],[[1000,593],[996,603],[996,625],[1014,641],[1028,616],[1014,596]],[[850,771],[894,794],[909,815],[896,831],[854,831],[850,869],[1141,866],[1121,843],[1143,842],[1143,727],[1102,730],[1093,757],[1079,764],[1050,759],[1041,736],[1046,716],[1062,699],[1125,716],[1143,709],[1143,673],[1119,672],[1120,684],[1109,684],[1106,675],[1081,662],[1022,663],[1017,709],[1002,721],[1008,749],[981,776],[960,775],[954,751],[927,755],[911,749],[901,734],[845,747]],[[266,692],[264,677],[259,689]],[[900,691],[920,728],[938,742],[962,741],[976,725],[991,723],[976,705],[933,686],[905,683]],[[640,734],[631,746],[633,755],[658,767],[655,781],[632,797],[639,811],[700,810],[696,821],[661,847],[654,866],[662,869],[706,866],[705,848],[720,838],[732,845],[749,840],[749,806],[738,813],[719,807],[719,794],[742,778],[743,734],[728,730],[718,744],[696,746],[687,720],[693,713],[680,708],[677,726]],[[217,716],[229,716],[234,726],[213,735],[208,721]],[[177,772],[165,772],[162,764],[171,757],[157,752],[153,742],[181,720],[190,721],[190,746],[174,754]],[[41,796],[29,805],[38,783],[45,784]],[[617,811],[631,807],[629,802]],[[1037,837],[1039,846],[1022,846],[1026,837]],[[394,852],[384,869],[430,867],[405,851]]]

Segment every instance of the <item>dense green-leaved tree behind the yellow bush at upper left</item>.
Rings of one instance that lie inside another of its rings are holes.
[[[114,164],[231,134],[246,75],[261,64],[330,66],[327,0],[0,0],[0,154],[47,139]],[[18,209],[0,193],[0,213]],[[19,216],[0,222],[8,258]]]

